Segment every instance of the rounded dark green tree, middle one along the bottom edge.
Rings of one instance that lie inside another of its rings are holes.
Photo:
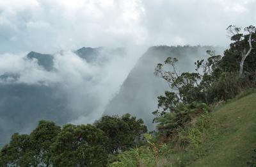
[[[67,124],[51,145],[54,166],[106,166],[107,138],[93,125]]]

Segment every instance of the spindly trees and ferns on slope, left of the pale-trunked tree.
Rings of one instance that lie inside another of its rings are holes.
[[[177,74],[177,59],[173,58],[164,61],[173,67],[173,72],[166,72],[163,65],[157,65],[155,74],[168,81],[173,90],[157,97],[158,108],[162,110],[153,112],[157,116],[153,122],[158,123],[159,134],[169,137],[177,135],[195,116],[209,111],[207,104],[231,99],[246,85],[246,79],[221,70],[221,56],[212,51],[207,51],[207,54],[207,60],[196,61],[196,72]]]

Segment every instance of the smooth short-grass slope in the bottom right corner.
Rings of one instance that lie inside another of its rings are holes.
[[[212,113],[218,135],[204,143],[205,156],[189,166],[246,166],[256,148],[256,93]]]

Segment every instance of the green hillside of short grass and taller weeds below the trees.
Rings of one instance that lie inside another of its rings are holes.
[[[187,144],[183,145],[183,141]],[[198,116],[195,123],[180,129],[177,138],[156,148],[145,145],[123,152],[109,166],[248,166],[246,163],[256,156],[255,90],[245,91],[210,114]]]

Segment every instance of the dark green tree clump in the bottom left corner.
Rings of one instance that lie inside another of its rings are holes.
[[[3,166],[50,166],[50,146],[60,127],[53,122],[40,121],[28,134],[13,134],[11,141],[0,153]]]

